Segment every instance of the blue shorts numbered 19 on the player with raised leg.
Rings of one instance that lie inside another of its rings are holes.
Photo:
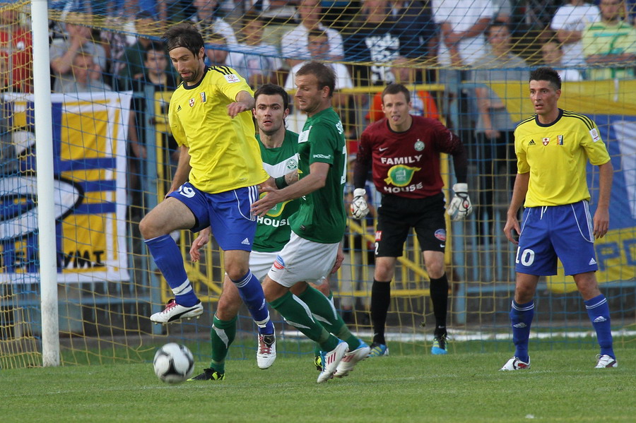
[[[252,251],[257,218],[249,209],[259,199],[258,186],[209,194],[186,182],[168,196],[177,198],[192,211],[196,220],[192,232],[210,226],[223,251]]]

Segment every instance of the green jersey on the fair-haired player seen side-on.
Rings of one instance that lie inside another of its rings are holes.
[[[346,226],[343,190],[347,174],[347,150],[342,122],[329,107],[307,118],[298,138],[299,176],[310,174],[315,162],[329,163],[325,185],[300,198],[291,229],[301,238],[322,244],[341,242]]]

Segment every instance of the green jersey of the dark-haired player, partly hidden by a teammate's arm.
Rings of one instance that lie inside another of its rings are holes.
[[[269,176],[282,177],[298,169],[298,133],[285,131],[283,145],[277,148],[266,148],[261,137],[256,136],[261,148],[263,167]],[[264,194],[261,194],[264,196]],[[254,251],[281,251],[289,241],[291,230],[289,217],[298,210],[298,201],[278,203],[263,217],[259,216],[257,233],[254,237]]]

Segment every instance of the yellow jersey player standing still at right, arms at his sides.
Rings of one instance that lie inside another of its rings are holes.
[[[530,99],[536,114],[514,131],[517,179],[504,227],[518,244],[517,285],[510,311],[514,357],[501,370],[530,367],[528,340],[534,316],[534,292],[541,275],[556,275],[557,258],[581,293],[601,347],[597,369],[617,367],[612,347],[610,314],[594,272],[599,266],[594,239],[609,226],[613,167],[599,129],[582,114],[558,108],[561,78],[553,68],[530,73]],[[587,162],[599,167],[599,201],[594,219],[589,210]],[[517,210],[525,207],[519,227]],[[519,234],[517,242],[512,231]]]

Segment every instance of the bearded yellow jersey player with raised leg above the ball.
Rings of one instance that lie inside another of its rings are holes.
[[[204,40],[193,25],[173,25],[164,39],[183,80],[168,114],[179,143],[179,164],[165,200],[141,220],[139,230],[175,299],[151,321],[170,323],[203,313],[170,232],[211,227],[225,252],[225,272],[259,335],[274,342],[263,290],[248,264],[257,227],[250,206],[259,196],[259,184],[269,179],[254,138],[252,90],[232,68],[204,64]]]

